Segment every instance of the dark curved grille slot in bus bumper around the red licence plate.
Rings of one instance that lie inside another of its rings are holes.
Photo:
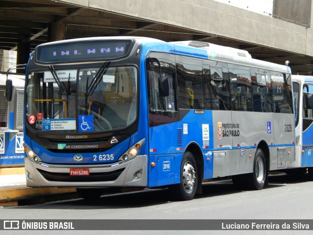
[[[59,182],[105,182],[114,181],[125,170],[125,168],[111,171],[90,173],[88,176],[70,176],[69,173],[49,172],[37,169],[48,181]]]

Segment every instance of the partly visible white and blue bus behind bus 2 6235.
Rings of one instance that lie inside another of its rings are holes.
[[[286,170],[292,176],[308,172],[313,178],[313,77],[292,75],[295,113],[295,161]]]

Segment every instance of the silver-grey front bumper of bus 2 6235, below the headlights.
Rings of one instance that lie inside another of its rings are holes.
[[[50,165],[25,157],[27,187],[146,187],[147,155],[101,165]],[[44,166],[43,166],[44,165]],[[112,167],[113,166],[113,167]],[[69,176],[70,168],[89,168],[89,176]]]

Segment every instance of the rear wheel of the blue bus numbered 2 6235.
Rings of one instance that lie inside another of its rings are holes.
[[[253,172],[246,175],[247,187],[251,190],[261,190],[267,181],[267,166],[264,152],[257,149],[253,161]]]

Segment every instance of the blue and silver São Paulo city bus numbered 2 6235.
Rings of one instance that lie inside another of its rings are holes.
[[[294,162],[291,69],[201,42],[99,37],[44,43],[26,67],[28,187],[169,188],[232,176],[261,190]]]

